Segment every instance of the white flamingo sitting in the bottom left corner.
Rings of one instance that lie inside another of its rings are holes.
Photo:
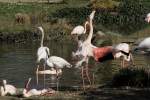
[[[11,84],[7,84],[6,80],[3,80],[3,86],[0,87],[0,93],[1,93],[1,96],[5,96],[7,94],[16,95],[17,89],[15,86]]]

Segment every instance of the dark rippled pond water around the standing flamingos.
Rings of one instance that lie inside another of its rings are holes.
[[[46,44],[50,48],[50,54],[60,56],[71,62],[71,53],[75,48],[72,43]],[[17,87],[24,87],[25,81],[32,77],[35,81],[36,71],[36,52],[39,43],[25,44],[1,44],[0,46],[0,80],[7,79],[9,83]],[[135,63],[138,65],[150,65],[149,56],[134,56]],[[105,63],[90,62],[90,68],[96,75],[97,83],[109,82],[113,74],[120,69],[119,61],[108,61]],[[53,78],[53,77],[52,77]],[[60,83],[63,86],[82,85],[80,70],[65,68],[61,76]]]

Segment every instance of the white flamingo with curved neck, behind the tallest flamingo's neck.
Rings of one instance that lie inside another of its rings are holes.
[[[86,33],[86,26],[89,24],[88,21],[85,22],[84,26],[82,25],[78,25],[76,26],[72,32],[71,32],[71,35],[81,35],[81,34],[85,34]]]

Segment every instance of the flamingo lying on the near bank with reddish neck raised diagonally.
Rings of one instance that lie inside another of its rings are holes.
[[[31,81],[31,78],[28,79],[28,82],[26,83],[25,88],[23,89],[23,97],[44,95],[46,93],[50,93],[50,94],[55,93],[55,91],[52,89],[42,89],[42,90],[30,89],[28,90],[30,81]]]

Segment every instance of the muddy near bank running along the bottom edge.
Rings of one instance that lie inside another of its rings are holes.
[[[49,96],[34,96],[29,98],[0,97],[1,100],[149,100],[149,88],[97,88],[83,91],[61,91]]]

